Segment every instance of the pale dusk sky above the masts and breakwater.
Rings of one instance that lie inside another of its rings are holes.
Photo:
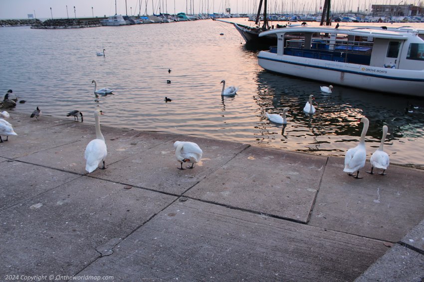
[[[145,14],[146,0],[116,0],[116,11],[118,14],[136,15],[140,11],[140,1],[141,14]],[[158,14],[159,6],[161,12],[190,13],[190,2],[192,13],[221,13],[225,7],[231,8],[231,13],[254,13],[259,0],[147,0],[147,14],[151,15],[153,10]],[[371,4],[397,5],[401,2],[421,5],[424,0],[331,0],[334,9],[355,11],[358,7],[360,10],[368,9]],[[323,3],[324,0],[268,0],[268,7],[288,13],[292,10],[296,13],[320,13],[319,6]],[[115,0],[0,0],[0,19],[23,19],[28,14],[35,14],[40,19],[110,16],[115,14]]]

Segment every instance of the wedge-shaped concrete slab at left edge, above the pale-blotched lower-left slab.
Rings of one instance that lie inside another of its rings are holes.
[[[78,175],[24,164],[17,161],[0,163],[0,210],[77,179]]]

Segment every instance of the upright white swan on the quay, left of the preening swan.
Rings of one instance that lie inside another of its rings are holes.
[[[94,111],[94,119],[96,120],[96,139],[93,139],[88,143],[85,148],[84,158],[87,161],[85,165],[85,170],[88,173],[93,172],[98,168],[100,162],[103,162],[103,167],[105,169],[105,158],[107,156],[107,148],[105,143],[105,138],[103,137],[102,132],[100,131],[100,115],[103,114],[102,110]]]

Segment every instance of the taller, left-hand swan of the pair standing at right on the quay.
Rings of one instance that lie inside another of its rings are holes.
[[[355,178],[362,178],[358,177],[359,170],[365,166],[365,160],[367,158],[367,151],[365,149],[365,135],[367,134],[368,125],[370,122],[365,116],[361,118],[361,122],[364,123],[361,139],[359,140],[358,146],[351,148],[346,152],[345,169],[343,170],[344,172],[347,172],[349,176],[353,176],[353,174],[357,172]]]

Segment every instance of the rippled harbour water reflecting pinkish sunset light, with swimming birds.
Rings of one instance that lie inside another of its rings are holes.
[[[424,28],[422,23],[409,25]],[[322,94],[319,86],[325,83],[260,68],[259,51],[240,44],[229,24],[202,20],[61,30],[4,27],[0,39],[0,91],[12,89],[25,99],[15,110],[28,115],[36,106],[61,118],[78,109],[84,122],[93,123],[93,111],[100,107],[105,125],[337,156],[356,146],[362,131],[357,120],[365,115],[370,120],[368,157],[379,146],[386,124],[385,151],[391,162],[424,165],[424,99],[341,86]],[[106,56],[96,56],[103,48]],[[93,79],[114,95],[95,102]],[[240,87],[238,94],[222,98],[221,80]],[[303,112],[309,94],[316,98],[312,116]],[[165,103],[165,96],[172,102]],[[420,108],[406,114],[409,103]],[[265,112],[282,113],[284,107],[290,109],[287,126],[265,118]]]

